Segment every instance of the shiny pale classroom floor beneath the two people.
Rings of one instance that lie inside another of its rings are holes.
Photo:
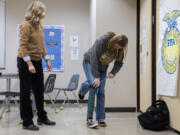
[[[86,105],[79,109],[76,105],[67,105],[59,114],[49,106],[48,116],[57,122],[56,126],[39,126],[40,131],[23,130],[18,107],[11,107],[11,112],[0,120],[0,135],[177,135],[172,131],[152,132],[144,130],[137,121],[137,113],[106,113],[108,126],[100,129],[86,127]],[[34,122],[36,123],[35,116]]]

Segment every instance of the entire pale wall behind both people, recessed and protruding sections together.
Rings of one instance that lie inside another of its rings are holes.
[[[65,87],[73,73],[79,73],[80,83],[85,80],[82,68],[84,52],[95,38],[107,31],[123,33],[129,38],[125,64],[113,80],[106,85],[106,107],[136,106],[136,0],[42,0],[47,6],[45,25],[65,25],[65,71],[57,72],[56,87]],[[24,19],[31,0],[7,0],[6,14],[6,69],[17,72],[17,24]],[[73,4],[72,4],[73,3]],[[80,56],[70,60],[70,35],[79,36]],[[112,65],[109,69],[111,69]],[[48,73],[45,73],[45,78]],[[18,81],[12,83],[18,89]],[[1,89],[5,81],[0,80]],[[59,99],[63,97],[60,96]],[[86,97],[87,98],[87,97]]]

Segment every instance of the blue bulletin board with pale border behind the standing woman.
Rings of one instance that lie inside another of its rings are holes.
[[[53,71],[64,71],[64,26],[44,25],[44,42]],[[20,24],[17,26],[17,42],[19,48]],[[18,50],[18,49],[17,49]],[[42,60],[43,70],[47,64]]]

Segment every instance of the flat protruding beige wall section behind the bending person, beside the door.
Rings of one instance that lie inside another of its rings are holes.
[[[97,0],[96,3],[96,35],[114,31],[129,39],[122,69],[114,83],[107,81],[106,107],[136,107],[136,5],[136,0]]]

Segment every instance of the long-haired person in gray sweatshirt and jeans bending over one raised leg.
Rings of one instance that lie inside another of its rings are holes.
[[[128,38],[113,32],[98,38],[94,45],[84,54],[83,68],[87,81],[81,84],[79,98],[83,99],[89,90],[87,126],[89,128],[106,127],[105,95],[106,78],[114,78],[123,65],[128,48]],[[107,75],[109,64],[114,61],[114,67]],[[93,121],[94,100],[97,94],[96,122]]]

